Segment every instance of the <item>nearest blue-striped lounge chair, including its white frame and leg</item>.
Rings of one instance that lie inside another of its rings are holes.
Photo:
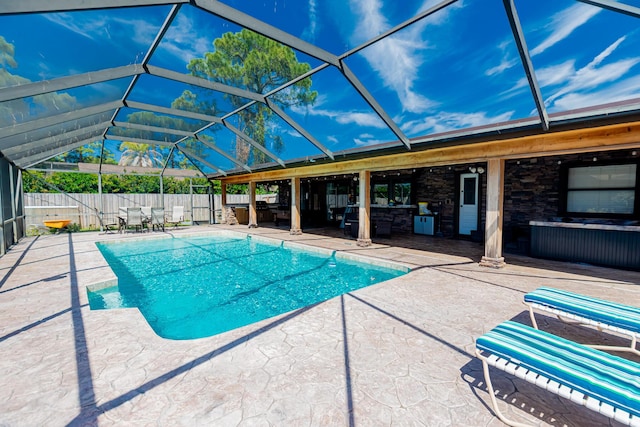
[[[529,326],[507,321],[476,340],[495,414],[489,366],[630,426],[640,426],[640,364]]]

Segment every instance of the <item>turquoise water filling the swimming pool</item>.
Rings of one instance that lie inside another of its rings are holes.
[[[92,309],[137,307],[160,336],[215,335],[405,274],[250,237],[98,243],[118,286]]]

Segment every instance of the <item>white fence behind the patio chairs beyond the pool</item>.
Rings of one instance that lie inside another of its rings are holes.
[[[103,223],[117,224],[120,207],[151,206],[162,207],[171,215],[174,206],[184,207],[184,219],[192,223],[219,222],[221,196],[216,194],[215,210],[209,194],[63,194],[63,193],[25,193],[25,224],[27,227],[43,226],[43,221],[52,219],[70,219],[82,229],[100,228],[98,213],[102,207]],[[257,200],[275,203],[276,195],[257,195]],[[164,203],[163,203],[164,202]],[[227,195],[229,205],[249,204],[247,194]]]

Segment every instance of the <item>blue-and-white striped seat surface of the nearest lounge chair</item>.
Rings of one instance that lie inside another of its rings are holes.
[[[640,417],[636,362],[511,321],[478,338],[476,347]]]

